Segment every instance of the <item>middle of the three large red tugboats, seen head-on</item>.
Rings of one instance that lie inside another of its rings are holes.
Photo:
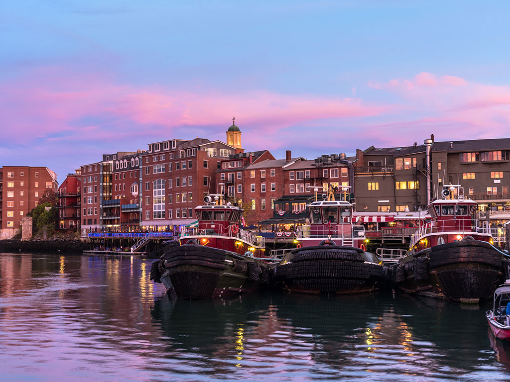
[[[275,268],[275,279],[283,288],[343,294],[370,292],[387,284],[389,268],[365,251],[365,229],[352,224],[352,204],[336,201],[330,188],[327,200],[312,202],[308,211],[310,223],[298,231],[300,248],[286,254]]]

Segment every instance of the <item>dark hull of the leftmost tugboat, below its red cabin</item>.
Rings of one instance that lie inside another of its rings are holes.
[[[159,279],[168,292],[183,299],[252,292],[269,284],[270,276],[269,265],[262,261],[195,244],[168,248],[154,267],[159,277],[151,279]]]

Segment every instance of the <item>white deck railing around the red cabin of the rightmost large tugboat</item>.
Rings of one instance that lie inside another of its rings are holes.
[[[432,233],[452,233],[461,232],[463,235],[469,234],[489,234],[491,235],[491,227],[489,222],[480,222],[481,226],[476,225],[476,221],[453,219],[453,220],[433,220],[419,227],[411,236],[410,247],[413,247],[425,235]]]

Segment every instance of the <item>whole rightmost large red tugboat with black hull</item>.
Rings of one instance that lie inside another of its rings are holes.
[[[428,210],[431,221],[393,268],[397,287],[466,304],[491,297],[502,278],[502,252],[492,245],[489,223],[474,218],[476,202],[464,198],[460,185],[448,185]]]

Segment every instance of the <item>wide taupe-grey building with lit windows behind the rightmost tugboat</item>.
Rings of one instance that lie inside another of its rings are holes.
[[[510,139],[435,142],[433,134],[423,145],[356,150],[356,210],[418,211],[448,184],[463,186],[481,211],[503,210],[510,205],[509,153]]]

